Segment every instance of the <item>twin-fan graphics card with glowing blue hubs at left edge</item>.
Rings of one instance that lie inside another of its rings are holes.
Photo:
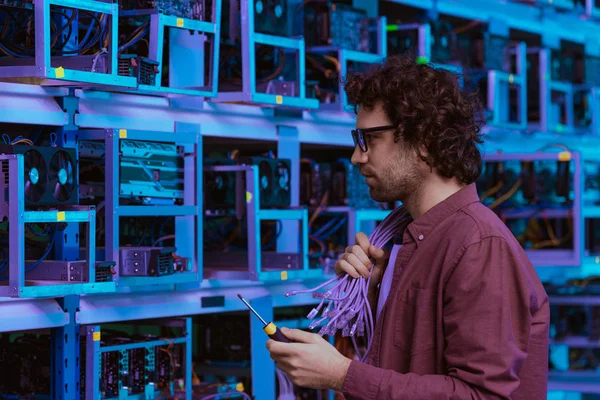
[[[25,205],[78,204],[75,149],[0,145],[0,153],[23,155]],[[9,186],[6,173],[4,186]]]

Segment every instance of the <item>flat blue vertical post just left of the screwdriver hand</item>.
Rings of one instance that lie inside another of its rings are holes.
[[[250,300],[252,307],[265,319],[273,321],[273,298],[270,296]],[[250,313],[249,313],[250,314]],[[250,318],[250,359],[252,395],[255,399],[275,399],[275,363],[271,360],[265,343],[269,339],[263,324],[254,315]]]

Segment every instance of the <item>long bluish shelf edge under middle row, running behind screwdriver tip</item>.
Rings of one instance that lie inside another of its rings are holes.
[[[193,292],[82,296],[76,321],[78,324],[89,325],[247,310],[237,297],[238,293],[247,299],[272,296],[274,307],[304,306],[316,304],[318,301],[310,294],[285,297],[285,293],[310,289],[323,282],[324,280],[314,280],[268,285],[250,281],[204,281],[201,288]],[[203,307],[203,299],[204,302],[211,302],[217,306]]]

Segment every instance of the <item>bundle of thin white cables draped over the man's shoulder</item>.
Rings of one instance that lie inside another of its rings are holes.
[[[410,214],[406,208],[403,206],[396,208],[371,233],[369,242],[375,247],[384,247],[394,236],[402,234],[410,221]],[[372,271],[373,268],[371,268]],[[324,324],[319,330],[321,336],[333,336],[338,330],[342,330],[343,336],[352,337],[356,354],[361,361],[364,361],[371,348],[375,330],[373,313],[368,301],[370,281],[370,276],[365,279],[362,276],[352,278],[343,274],[313,289],[292,291],[286,293],[286,296],[312,293],[314,298],[321,299],[320,304],[313,308],[307,316],[313,321],[309,328],[314,329]],[[327,287],[329,289],[325,292],[317,292]],[[315,319],[319,313],[321,313],[321,318]],[[362,356],[356,343],[356,336],[366,336],[367,350]]]

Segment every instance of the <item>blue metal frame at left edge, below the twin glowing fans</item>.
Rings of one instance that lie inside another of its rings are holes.
[[[0,295],[10,297],[58,297],[67,294],[103,293],[115,290],[114,282],[95,282],[96,209],[93,206],[67,206],[52,211],[25,211],[24,162],[21,154],[0,155],[0,162],[8,163],[8,286],[0,287]],[[66,222],[87,224],[86,261],[88,283],[56,283],[36,281],[26,284],[25,224],[39,222]]]

